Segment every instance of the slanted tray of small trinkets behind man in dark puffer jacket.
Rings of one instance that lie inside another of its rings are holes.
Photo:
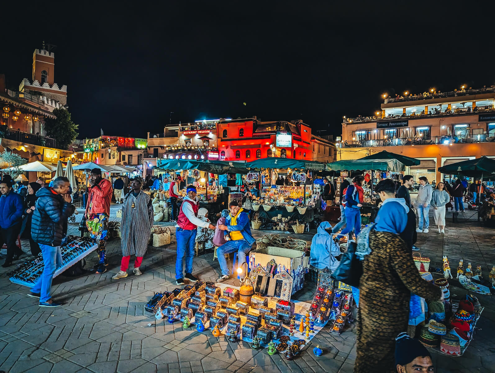
[[[56,277],[65,271],[65,269],[74,265],[97,248],[98,245],[95,243],[95,240],[91,238],[81,238],[72,235],[67,236],[67,242],[60,246],[62,266],[56,269],[53,277]],[[14,270],[10,271],[7,276],[11,282],[31,287],[43,273],[44,267],[43,256],[40,254],[37,257],[27,260],[22,265],[17,266]],[[155,313],[155,311],[148,312]]]

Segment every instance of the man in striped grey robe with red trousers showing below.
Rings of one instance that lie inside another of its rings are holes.
[[[153,223],[153,208],[149,195],[141,190],[143,181],[135,178],[131,182],[131,191],[124,198],[120,229],[122,235],[122,262],[120,271],[112,278],[127,277],[127,268],[131,255],[136,257],[133,273],[141,275],[141,262],[148,247],[151,225]]]

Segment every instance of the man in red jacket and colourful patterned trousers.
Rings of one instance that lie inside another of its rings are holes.
[[[106,272],[106,238],[108,234],[108,217],[112,199],[112,183],[101,178],[101,170],[94,168],[90,173],[88,204],[86,205],[86,227],[91,238],[98,244],[99,264],[96,273]]]

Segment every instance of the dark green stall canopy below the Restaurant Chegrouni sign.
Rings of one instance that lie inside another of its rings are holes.
[[[249,172],[244,167],[245,162],[228,162],[222,160],[156,160],[156,167],[163,170],[191,170],[198,169],[200,171],[223,175],[224,173],[242,173]]]

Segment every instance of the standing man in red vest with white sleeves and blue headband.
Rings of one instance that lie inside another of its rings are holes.
[[[172,188],[172,186],[170,187]],[[193,276],[194,245],[197,235],[197,228],[215,229],[215,226],[207,221],[198,218],[198,201],[196,200],[196,187],[190,185],[186,189],[187,196],[182,201],[175,226],[175,237],[177,239],[177,259],[175,261],[175,283],[184,285],[184,278],[191,282],[198,279]],[[186,275],[183,275],[184,262],[186,265]]]

